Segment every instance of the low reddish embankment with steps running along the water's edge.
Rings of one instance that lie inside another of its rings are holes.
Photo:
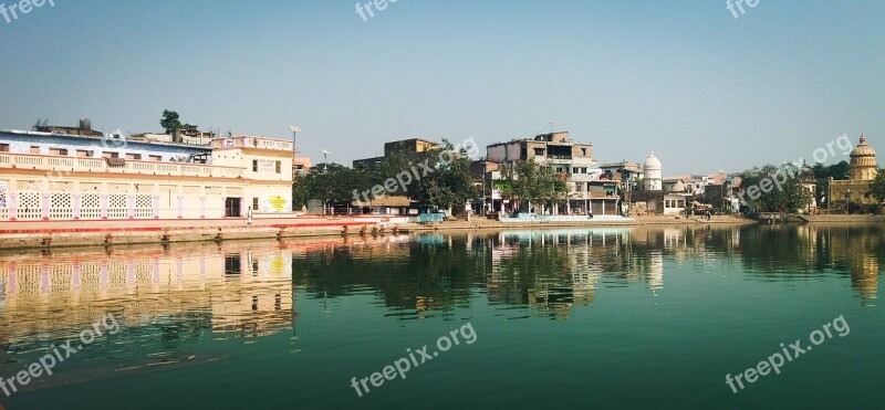
[[[226,220],[110,220],[110,221],[37,221],[0,223],[0,249],[40,249],[104,246],[142,243],[177,243],[283,239],[303,236],[341,236],[389,234],[427,231],[545,229],[579,227],[635,227],[685,224],[751,224],[753,220],[737,217],[638,217],[618,221],[582,222],[508,222],[472,217],[437,223],[397,223],[386,218],[299,217]],[[346,228],[345,228],[346,227]],[[362,232],[361,232],[362,231]]]

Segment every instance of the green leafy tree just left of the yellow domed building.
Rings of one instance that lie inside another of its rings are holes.
[[[780,189],[773,182],[783,180]],[[767,165],[741,174],[741,198],[751,211],[794,212],[811,203],[811,196],[802,186],[801,171],[793,165],[777,168]]]

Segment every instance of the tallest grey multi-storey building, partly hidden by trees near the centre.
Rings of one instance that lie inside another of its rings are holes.
[[[569,200],[552,207],[553,214],[617,214],[620,197],[613,188],[616,182],[601,178],[603,171],[593,159],[593,145],[572,141],[568,132],[489,145],[486,159],[499,164],[534,160],[560,174],[569,187]]]

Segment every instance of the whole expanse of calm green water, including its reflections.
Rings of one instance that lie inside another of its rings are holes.
[[[882,238],[878,225],[625,228],[4,254],[0,377],[107,314],[119,327],[0,403],[878,408]],[[844,337],[737,393],[726,383],[840,316]],[[439,351],[444,336],[459,344]],[[425,345],[438,355],[421,364]],[[400,358],[405,379],[372,385]]]

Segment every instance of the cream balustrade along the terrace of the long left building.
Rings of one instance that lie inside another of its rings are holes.
[[[0,170],[4,168],[41,171],[156,175],[169,177],[242,178],[242,168],[218,167],[190,162],[154,162],[126,160],[112,166],[104,158],[55,157],[0,153]]]

